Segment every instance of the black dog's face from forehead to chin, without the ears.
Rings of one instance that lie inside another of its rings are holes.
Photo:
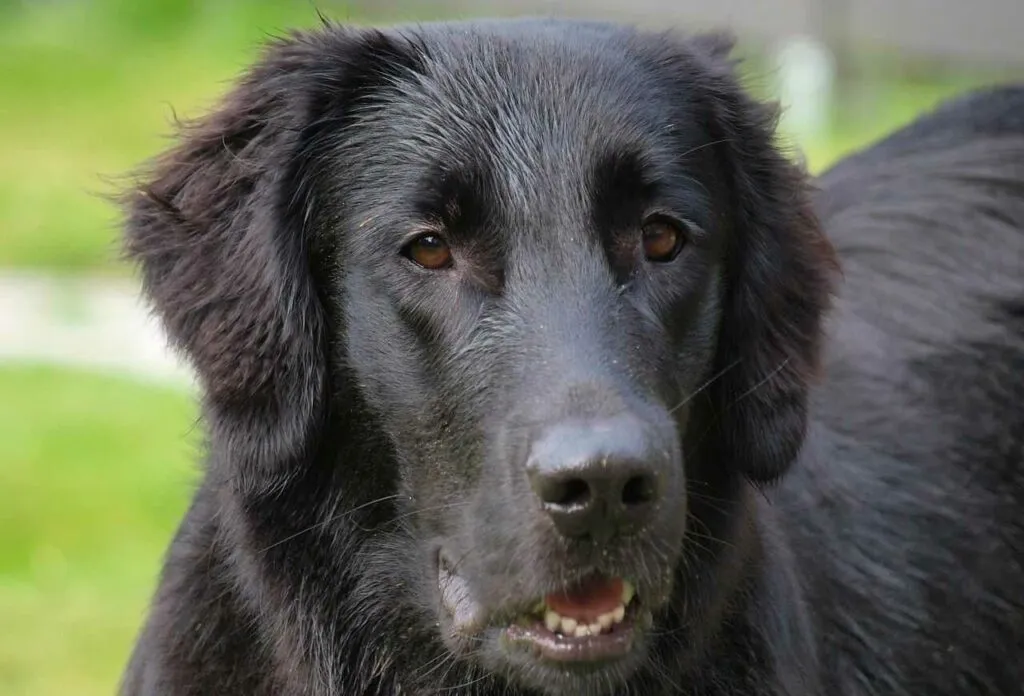
[[[686,528],[728,195],[696,107],[611,53],[447,47],[324,184],[339,357],[394,443],[441,635],[492,667],[629,664]]]

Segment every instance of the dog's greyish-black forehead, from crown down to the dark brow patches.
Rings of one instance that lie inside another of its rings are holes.
[[[692,100],[674,92],[634,34],[520,21],[401,37],[415,67],[389,81],[348,138],[366,182],[387,181],[390,191],[454,173],[485,181],[506,211],[550,213],[558,202],[579,213],[608,163],[668,172],[707,139]],[[379,192],[379,183],[366,189]]]

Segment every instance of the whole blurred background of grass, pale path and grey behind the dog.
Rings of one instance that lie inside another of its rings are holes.
[[[0,0],[0,694],[111,694],[196,479],[189,376],[106,197],[259,42],[317,24],[558,13],[732,29],[820,171],[1024,78],[1021,0]]]

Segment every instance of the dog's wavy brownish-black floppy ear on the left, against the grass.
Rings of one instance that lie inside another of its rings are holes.
[[[198,375],[212,464],[243,490],[279,485],[317,447],[328,367],[310,266],[316,158],[351,102],[403,61],[376,32],[279,40],[125,197],[126,254]]]

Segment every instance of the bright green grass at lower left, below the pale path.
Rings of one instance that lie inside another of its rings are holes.
[[[0,693],[114,693],[196,474],[186,394],[0,368]]]

